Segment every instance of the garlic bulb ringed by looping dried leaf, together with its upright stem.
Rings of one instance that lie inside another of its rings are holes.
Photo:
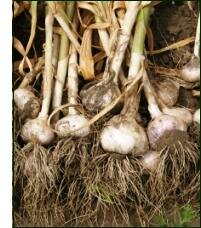
[[[75,23],[74,23],[75,24]],[[71,45],[70,57],[68,63],[68,102],[70,105],[77,104],[78,96],[78,72],[77,72],[77,51],[73,45]],[[62,91],[61,91],[62,92]],[[79,114],[74,107],[69,107],[67,116],[60,119],[56,125],[55,129],[59,136],[66,136],[66,132],[71,131],[71,136],[85,137],[89,134],[90,128],[83,127],[88,123],[88,120],[83,114]],[[81,128],[81,129],[80,129]],[[78,131],[74,131],[80,129]]]

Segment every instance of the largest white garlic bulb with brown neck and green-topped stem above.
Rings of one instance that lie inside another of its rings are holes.
[[[145,7],[139,11],[137,16],[128,80],[135,78],[140,73],[149,14],[150,8]],[[145,130],[135,120],[140,100],[138,86],[139,83],[133,88],[132,94],[127,94],[125,97],[124,108],[120,115],[111,118],[101,132],[100,141],[105,151],[120,154],[133,152],[138,155],[148,149]]]

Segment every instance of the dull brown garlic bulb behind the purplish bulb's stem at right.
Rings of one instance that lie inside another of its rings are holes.
[[[174,82],[168,79],[153,80],[152,85],[155,92],[165,105],[172,107],[176,104],[179,97],[179,88]]]

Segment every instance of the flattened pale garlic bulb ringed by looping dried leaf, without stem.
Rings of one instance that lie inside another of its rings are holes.
[[[67,131],[73,131],[79,129],[88,123],[88,120],[81,114],[69,114],[66,117],[60,119],[56,125],[55,129],[60,132],[60,134],[65,134]],[[71,136],[75,137],[85,137],[90,133],[90,127],[84,127],[78,131],[70,133]]]

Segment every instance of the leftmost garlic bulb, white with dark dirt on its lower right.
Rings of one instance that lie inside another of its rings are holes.
[[[28,88],[14,91],[14,101],[22,118],[34,119],[40,112],[40,101]]]

